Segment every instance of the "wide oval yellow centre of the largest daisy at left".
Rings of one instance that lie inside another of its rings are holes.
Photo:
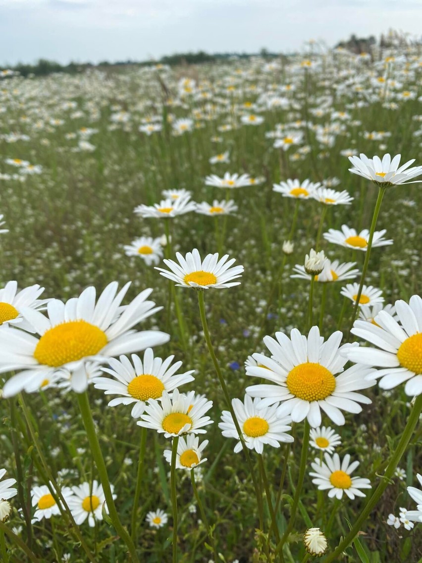
[[[72,320],[48,329],[39,339],[34,358],[40,364],[59,367],[86,356],[95,356],[107,344],[102,330],[85,320]]]

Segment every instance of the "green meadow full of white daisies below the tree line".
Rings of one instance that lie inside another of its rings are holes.
[[[421,70],[0,73],[2,561],[422,561]]]

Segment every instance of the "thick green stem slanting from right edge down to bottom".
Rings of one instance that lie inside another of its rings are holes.
[[[330,561],[336,560],[336,558],[340,555],[340,553],[342,553],[344,549],[346,549],[353,542],[353,539],[360,531],[363,522],[365,522],[367,517],[370,515],[372,509],[375,507],[376,503],[378,503],[379,499],[384,493],[384,490],[387,488],[390,479],[392,479],[394,475],[394,471],[396,471],[396,467],[398,466],[398,463],[401,460],[403,454],[405,453],[408,443],[410,442],[413,431],[415,430],[417,422],[419,421],[419,416],[421,412],[422,412],[422,395],[419,395],[419,397],[417,397],[415,401],[414,407],[410,412],[405,429],[403,430],[403,434],[399,440],[399,443],[397,444],[396,450],[394,451],[388,463],[387,469],[385,470],[381,482],[378,484],[378,487],[375,489],[374,493],[372,493],[369,501],[367,502],[365,508],[363,508],[356,522],[354,522],[352,529],[345,536],[343,541],[340,542],[339,546],[336,547],[336,549],[326,557],[324,563],[330,563]]]

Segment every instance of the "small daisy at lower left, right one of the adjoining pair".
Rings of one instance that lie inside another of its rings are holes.
[[[113,493],[114,485],[110,484],[110,487]],[[93,528],[96,520],[102,520],[103,506],[106,513],[109,513],[102,485],[96,479],[92,481],[92,487],[88,482],[84,482],[82,485],[73,486],[72,490],[74,494],[73,497],[69,498],[68,506],[78,525],[88,519],[89,526]],[[116,497],[117,495],[114,494],[113,499]]]

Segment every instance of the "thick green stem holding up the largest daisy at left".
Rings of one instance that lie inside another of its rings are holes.
[[[136,548],[134,543],[128,534],[127,530],[123,528],[119,520],[119,515],[114,504],[113,493],[111,492],[109,476],[107,475],[107,468],[102,457],[100,443],[95,430],[94,421],[92,419],[91,407],[89,406],[87,391],[83,393],[77,393],[77,399],[79,404],[80,414],[82,415],[83,424],[87,432],[87,437],[89,441],[89,447],[91,448],[91,454],[97,466],[98,476],[100,477],[102,490],[104,491],[104,497],[106,499],[107,508],[109,509],[110,520],[113,522],[113,526],[116,532],[119,534],[120,538],[123,539],[126,544],[129,553],[132,558],[132,563],[139,563],[138,556],[136,554]]]

